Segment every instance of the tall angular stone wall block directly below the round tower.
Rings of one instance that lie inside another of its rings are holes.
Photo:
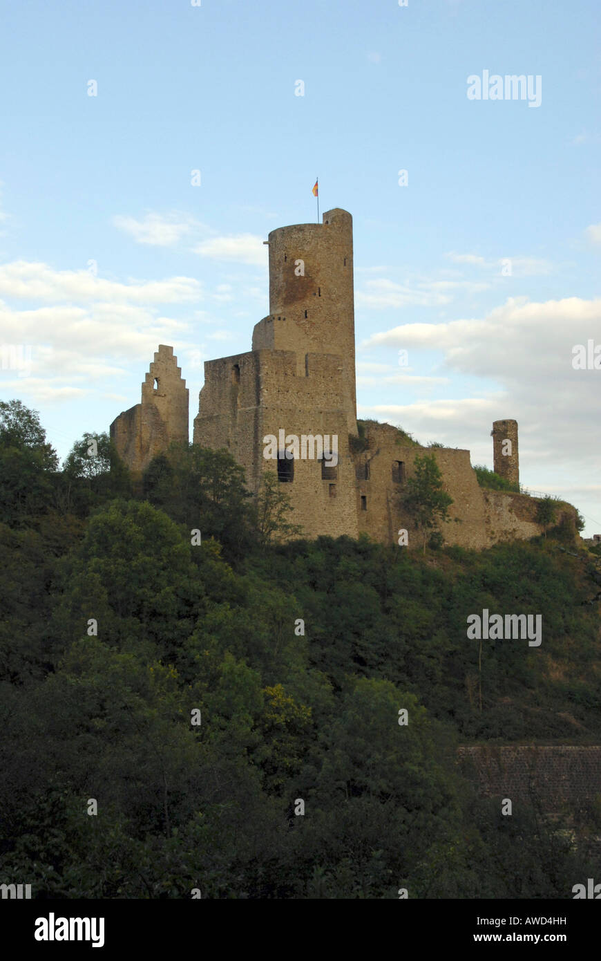
[[[303,535],[357,536],[354,465],[349,454],[346,382],[341,358],[306,355],[299,374],[292,351],[252,351],[204,364],[204,387],[194,421],[194,443],[225,447],[245,468],[256,494],[264,471],[263,438],[327,434],[338,438],[338,464],[323,472],[315,459],[294,461],[294,478],[282,483]],[[327,465],[324,465],[327,466]]]

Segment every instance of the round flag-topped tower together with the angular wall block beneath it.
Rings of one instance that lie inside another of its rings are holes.
[[[328,210],[322,224],[281,227],[267,243],[270,315],[255,325],[251,352],[204,363],[194,443],[227,448],[254,494],[276,472],[308,535],[356,537],[352,217]],[[282,449],[265,458],[265,437],[292,435],[335,436],[337,463],[286,462]]]

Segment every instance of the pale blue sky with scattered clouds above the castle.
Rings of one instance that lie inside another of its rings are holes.
[[[193,419],[204,360],[269,311],[263,240],[317,219],[319,176],[321,213],[353,217],[358,416],[491,468],[515,419],[522,483],[601,533],[598,0],[0,17],[0,398],[61,457],[139,402],[159,343]]]

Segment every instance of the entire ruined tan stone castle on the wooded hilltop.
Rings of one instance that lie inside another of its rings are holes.
[[[388,424],[357,423],[349,212],[328,210],[323,223],[281,227],[265,242],[269,315],[255,325],[251,351],[205,361],[193,443],[227,449],[254,496],[264,473],[275,472],[306,537],[365,532],[390,544],[408,530],[414,546],[401,496],[424,453],[436,457],[453,499],[441,526],[447,544],[482,549],[541,533],[537,501],[481,487],[469,451],[423,448]],[[518,485],[517,422],[495,421],[492,433],[494,471]],[[188,391],[172,347],[159,346],[141,404],[113,421],[110,436],[138,479],[172,441],[187,441]],[[276,451],[267,458],[270,437]],[[322,438],[334,437],[337,456],[327,456]],[[302,449],[295,438],[307,442]],[[558,520],[565,514],[573,524],[575,513],[560,505]]]

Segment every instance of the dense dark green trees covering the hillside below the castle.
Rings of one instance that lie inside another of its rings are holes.
[[[0,404],[0,882],[571,898],[601,809],[502,817],[456,748],[599,743],[594,554],[561,529],[482,553],[291,540],[284,486],[253,505],[192,446],[132,484],[106,434],[59,467],[36,412]],[[480,649],[483,608],[542,612],[543,644]]]

